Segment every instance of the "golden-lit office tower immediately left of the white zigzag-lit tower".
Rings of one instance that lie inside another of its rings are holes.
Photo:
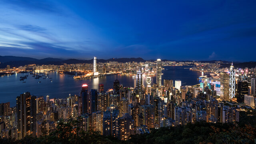
[[[229,100],[229,73],[220,72],[220,99]]]

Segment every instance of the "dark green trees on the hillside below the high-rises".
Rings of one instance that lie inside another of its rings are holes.
[[[196,122],[185,126],[153,129],[128,141],[99,132],[80,130],[78,121],[60,122],[54,132],[40,138],[0,139],[0,144],[255,144],[256,112],[240,112],[238,124]]]

